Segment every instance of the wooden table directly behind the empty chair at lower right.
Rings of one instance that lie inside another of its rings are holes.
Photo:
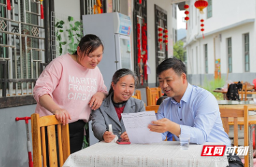
[[[247,102],[247,101],[246,101]],[[244,105],[218,105],[220,109],[244,109]],[[248,111],[255,111],[256,105],[247,105]],[[238,118],[238,125],[244,124],[244,118]],[[233,117],[229,118],[229,125],[233,125]],[[256,126],[256,115],[248,115],[248,130],[249,130],[249,166],[253,167],[253,126]],[[256,138],[256,133],[255,133]]]

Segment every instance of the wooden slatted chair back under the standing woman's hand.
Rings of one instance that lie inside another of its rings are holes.
[[[49,167],[58,166],[55,125],[57,125],[59,166],[63,166],[63,163],[70,155],[70,134],[68,124],[63,126],[63,124],[56,119],[55,115],[39,117],[38,113],[33,113],[31,115],[33,166],[42,167],[42,157],[44,162],[43,165],[44,167],[46,166],[45,127],[47,128],[48,136]]]

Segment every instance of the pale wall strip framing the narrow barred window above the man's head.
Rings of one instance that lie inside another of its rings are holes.
[[[167,26],[168,26],[168,56],[172,56],[171,34],[172,34],[172,6],[171,1],[166,0],[150,0],[147,1],[147,43],[148,43],[148,62],[151,68],[151,74],[148,75],[148,83],[156,83],[156,44],[155,44],[155,16],[154,5],[158,5],[163,10],[167,11]]]

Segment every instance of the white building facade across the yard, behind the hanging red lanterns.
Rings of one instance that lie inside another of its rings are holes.
[[[256,2],[208,0],[204,14],[195,8],[195,0],[186,3],[190,5],[184,45],[188,81],[202,86],[205,79],[221,77],[252,83],[256,78]]]

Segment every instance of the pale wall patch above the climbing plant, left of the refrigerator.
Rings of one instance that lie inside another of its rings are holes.
[[[80,1],[70,1],[70,0],[55,0],[55,12],[57,14],[63,14],[66,16],[72,16],[76,20],[80,20]]]

